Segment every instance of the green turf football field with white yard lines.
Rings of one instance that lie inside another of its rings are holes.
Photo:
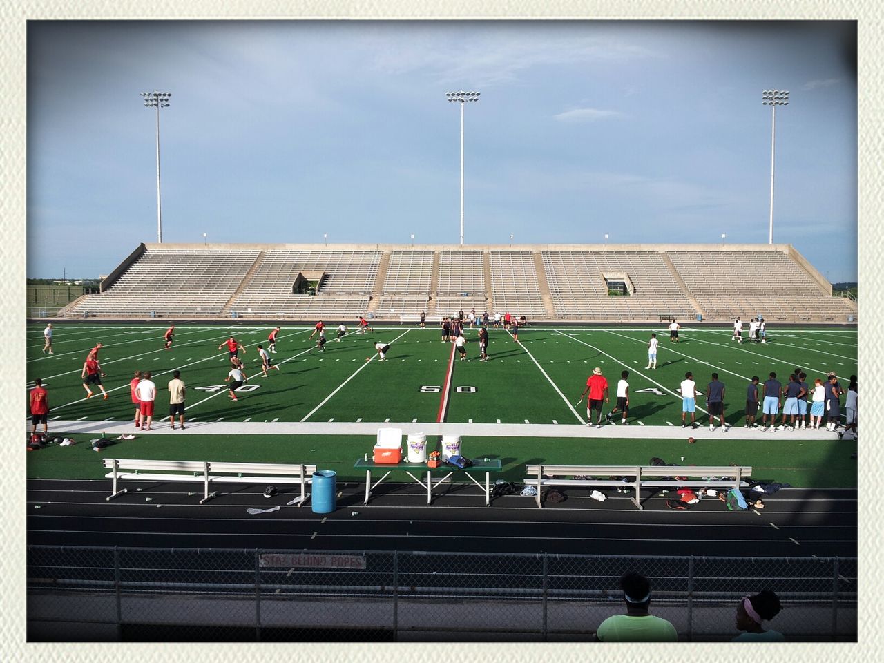
[[[129,380],[135,370],[150,370],[159,387],[157,419],[165,420],[165,385],[172,370],[187,383],[187,420],[191,422],[420,422],[581,424],[586,421],[585,400],[575,405],[587,377],[601,367],[614,389],[622,370],[629,370],[628,423],[635,427],[681,425],[681,398],[676,392],[684,373],[693,371],[701,392],[717,371],[727,385],[726,418],[743,425],[745,387],[753,375],[762,381],[775,371],[782,382],[799,367],[814,377],[834,370],[846,385],[857,373],[855,328],[769,328],[765,345],[731,340],[728,329],[700,326],[682,328],[681,342],[670,344],[664,325],[658,328],[550,328],[529,327],[515,343],[507,331],[490,330],[491,361],[478,362],[476,330],[467,332],[469,361],[453,361],[447,408],[440,416],[445,391],[450,344],[440,342],[436,328],[377,327],[374,332],[350,331],[341,342],[335,329],[327,330],[324,353],[309,340],[312,328],[284,327],[278,353],[279,370],[261,377],[257,344],[267,347],[267,326],[181,325],[171,350],[163,349],[166,324],[57,324],[51,356],[42,354],[43,325],[27,329],[28,387],[41,377],[50,392],[52,421],[128,422],[134,406]],[[656,331],[660,339],[658,369],[645,370],[647,341]],[[248,384],[240,400],[228,399],[224,378],[229,370],[226,348],[218,345],[233,336],[247,348]],[[99,358],[109,400],[100,394],[86,400],[80,370],[89,348],[103,343]],[[374,343],[391,344],[385,362],[377,362]],[[708,417],[699,408],[697,420]],[[619,423],[619,419],[617,419]],[[355,477],[353,461],[370,450],[364,436],[221,436],[191,435],[174,438],[168,424],[126,442],[126,457],[187,458],[188,460],[320,461],[337,469],[342,478]],[[735,428],[734,431],[742,430]],[[589,430],[588,437],[589,437]],[[134,429],[133,429],[134,432]],[[505,460],[505,476],[521,478],[528,461],[642,462],[651,455],[685,462],[740,462],[770,469],[777,481],[802,485],[855,485],[856,461],[850,461],[855,443],[789,440],[781,436],[768,443],[741,440],[715,445],[687,446],[683,439],[610,440],[594,438],[482,438],[470,440],[469,453]],[[80,436],[86,439],[89,436]],[[97,436],[92,436],[97,437]],[[116,447],[122,449],[122,447]],[[91,455],[90,455],[91,454]],[[145,456],[145,454],[149,454]],[[667,457],[667,454],[669,457]],[[591,455],[591,459],[587,458]],[[842,461],[842,456],[847,459]],[[823,471],[825,469],[825,471]],[[44,449],[28,454],[29,476],[102,476],[96,454],[88,446]]]

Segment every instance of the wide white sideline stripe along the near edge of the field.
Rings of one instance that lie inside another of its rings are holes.
[[[638,426],[605,424],[600,429],[576,424],[545,423],[413,423],[413,422],[203,422],[197,418],[186,423],[184,431],[171,431],[169,420],[153,423],[153,431],[136,429],[131,422],[65,421],[50,422],[50,435],[57,433],[102,432],[117,437],[120,433],[137,435],[174,434],[187,435],[377,435],[378,428],[400,428],[403,434],[425,433],[427,435],[460,435],[461,437],[499,438],[641,438],[641,439],[687,439],[699,440],[728,439],[833,439],[834,432],[823,429],[798,431],[766,432],[734,426],[728,432],[716,428],[710,432],[709,426],[697,430],[677,426]]]

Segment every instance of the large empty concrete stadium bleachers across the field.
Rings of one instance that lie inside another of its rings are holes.
[[[63,317],[353,319],[509,311],[530,321],[857,321],[790,245],[144,244]],[[295,293],[299,275],[321,281]],[[625,283],[624,294],[608,282]],[[764,291],[761,283],[776,283]]]

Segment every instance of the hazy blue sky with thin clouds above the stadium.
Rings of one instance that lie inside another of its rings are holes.
[[[31,21],[27,276],[156,241],[775,242],[857,278],[850,22]],[[762,275],[759,275],[761,277]]]

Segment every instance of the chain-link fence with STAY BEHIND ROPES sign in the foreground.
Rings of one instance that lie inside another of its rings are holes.
[[[29,641],[581,641],[652,584],[684,641],[735,635],[770,589],[790,641],[857,639],[857,559],[27,548]]]

